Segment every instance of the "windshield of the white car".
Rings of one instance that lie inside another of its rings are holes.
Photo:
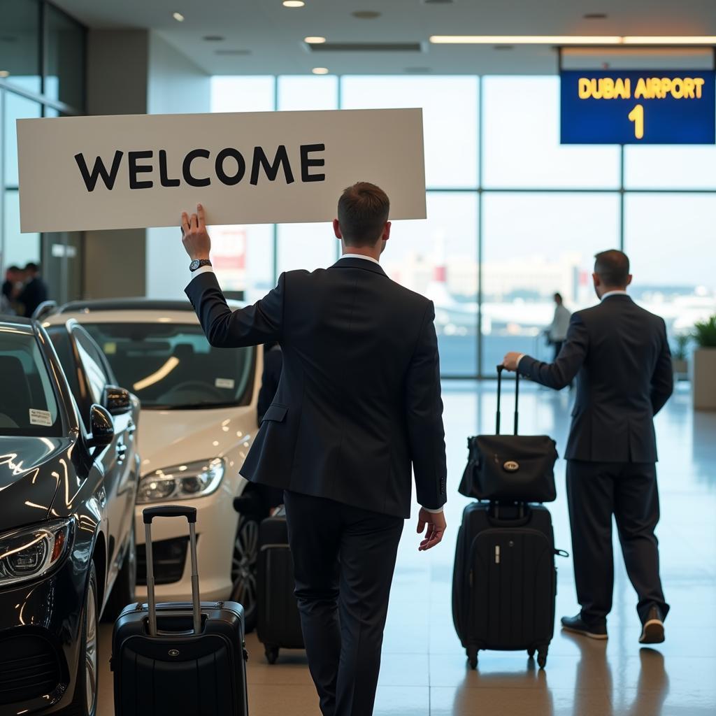
[[[105,352],[117,382],[142,408],[248,405],[255,349],[213,348],[201,326],[173,323],[82,323]]]

